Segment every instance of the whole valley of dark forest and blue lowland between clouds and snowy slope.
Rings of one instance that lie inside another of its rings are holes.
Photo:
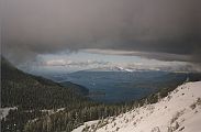
[[[70,132],[92,120],[155,103],[200,74],[167,72],[77,72],[65,81],[24,73],[1,57],[1,130]],[[63,80],[60,79],[60,80]]]

